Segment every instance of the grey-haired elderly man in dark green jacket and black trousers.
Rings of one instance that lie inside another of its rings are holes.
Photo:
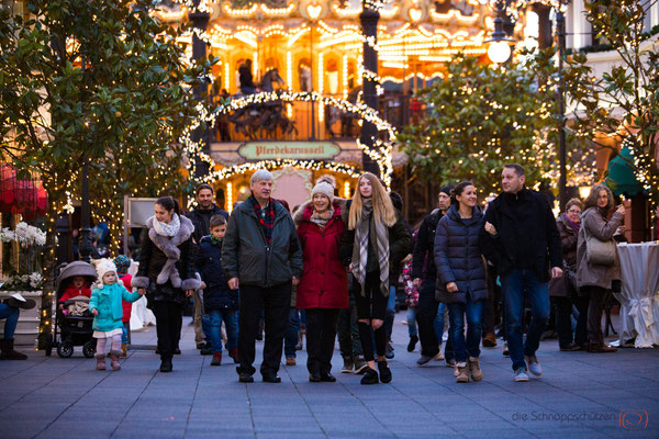
[[[252,195],[228,218],[222,247],[222,264],[228,286],[241,289],[238,358],[242,383],[254,382],[254,344],[261,311],[266,318],[266,342],[260,373],[265,382],[279,383],[277,375],[288,324],[291,288],[302,275],[302,248],[288,210],[270,194],[272,175],[254,172]]]

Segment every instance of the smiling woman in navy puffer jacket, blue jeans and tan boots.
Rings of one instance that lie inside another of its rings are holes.
[[[437,300],[448,306],[459,383],[469,382],[470,374],[473,381],[483,378],[479,345],[488,284],[478,239],[484,216],[476,199],[473,184],[466,181],[456,185],[454,204],[439,219],[435,235]]]

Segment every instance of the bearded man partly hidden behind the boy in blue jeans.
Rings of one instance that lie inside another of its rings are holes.
[[[228,221],[228,212],[223,211],[217,207],[214,200],[214,191],[213,187],[206,183],[199,184],[196,191],[196,200],[197,207],[194,207],[191,212],[189,212],[186,216],[190,218],[192,224],[194,225],[194,232],[192,233],[192,240],[196,244],[194,248],[194,258],[198,258],[199,255],[199,245],[201,244],[201,238],[204,236],[209,236],[211,234],[210,223],[211,217],[214,215],[222,215],[226,221]],[[196,263],[198,263],[196,261]],[[194,303],[194,342],[197,344],[197,349],[202,349],[202,354],[211,354],[212,349],[210,342],[205,342],[206,339],[210,340],[210,335],[205,334],[203,330],[202,324],[202,305],[199,293],[194,292],[192,294],[192,301]]]

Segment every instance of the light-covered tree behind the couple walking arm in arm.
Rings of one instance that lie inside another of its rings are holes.
[[[420,179],[499,192],[506,162],[524,166],[530,184],[554,179],[554,52],[523,55],[503,67],[457,55],[445,80],[421,92],[426,116],[399,136]]]

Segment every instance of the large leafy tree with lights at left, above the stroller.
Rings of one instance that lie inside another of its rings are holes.
[[[124,194],[177,184],[176,142],[197,117],[178,30],[147,0],[27,0],[30,20],[0,5],[0,156],[41,175],[48,192],[42,335],[49,329],[55,221],[72,211],[85,157],[93,214],[116,239]],[[43,346],[44,337],[40,345]]]

